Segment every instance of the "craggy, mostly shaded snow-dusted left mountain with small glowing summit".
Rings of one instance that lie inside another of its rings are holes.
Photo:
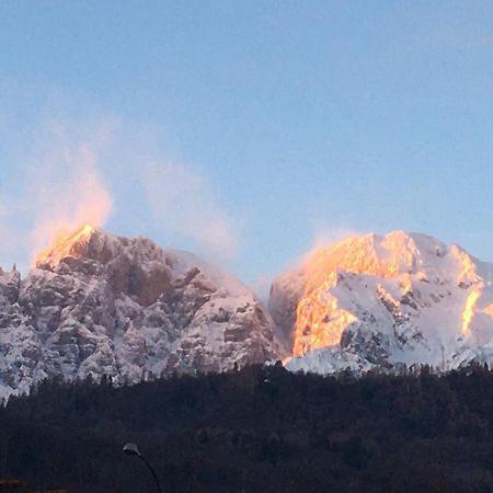
[[[47,376],[139,381],[277,354],[273,322],[240,282],[185,252],[85,226],[21,282],[0,270],[0,397]]]

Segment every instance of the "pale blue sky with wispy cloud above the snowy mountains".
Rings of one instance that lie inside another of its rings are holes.
[[[492,25],[489,1],[1,2],[0,265],[88,188],[107,230],[253,285],[346,231],[493,261]]]

